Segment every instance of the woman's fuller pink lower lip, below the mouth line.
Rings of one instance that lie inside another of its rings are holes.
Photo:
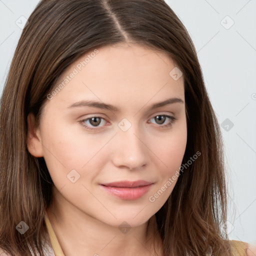
[[[123,200],[135,200],[148,192],[152,184],[139,187],[114,187],[101,185],[112,195],[115,195]]]

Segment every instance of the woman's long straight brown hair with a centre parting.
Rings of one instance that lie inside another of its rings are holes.
[[[163,0],[41,0],[22,31],[0,101],[0,247],[43,255],[52,180],[43,157],[27,150],[27,115],[39,123],[47,94],[82,54],[118,42],[167,53],[184,77],[187,145],[169,198],[155,213],[164,256],[231,255],[225,228],[226,186],[219,124],[191,38]],[[24,221],[28,230],[15,226]],[[224,226],[224,225],[223,225]]]

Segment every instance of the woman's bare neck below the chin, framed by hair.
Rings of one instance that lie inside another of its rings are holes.
[[[161,255],[155,215],[139,226],[122,230],[67,204],[60,195],[52,198],[46,211],[65,256]]]

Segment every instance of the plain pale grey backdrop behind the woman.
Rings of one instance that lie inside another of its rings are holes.
[[[0,91],[38,0],[0,0]],[[256,0],[166,0],[196,47],[225,145],[229,238],[256,244]],[[21,17],[23,18],[23,17]]]

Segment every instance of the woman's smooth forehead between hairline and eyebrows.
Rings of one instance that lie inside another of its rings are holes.
[[[83,54],[62,73],[55,86],[63,86],[54,101],[69,105],[82,99],[118,99],[141,105],[150,98],[184,100],[183,77],[173,79],[173,68],[169,55],[156,49],[135,43],[107,45]]]

